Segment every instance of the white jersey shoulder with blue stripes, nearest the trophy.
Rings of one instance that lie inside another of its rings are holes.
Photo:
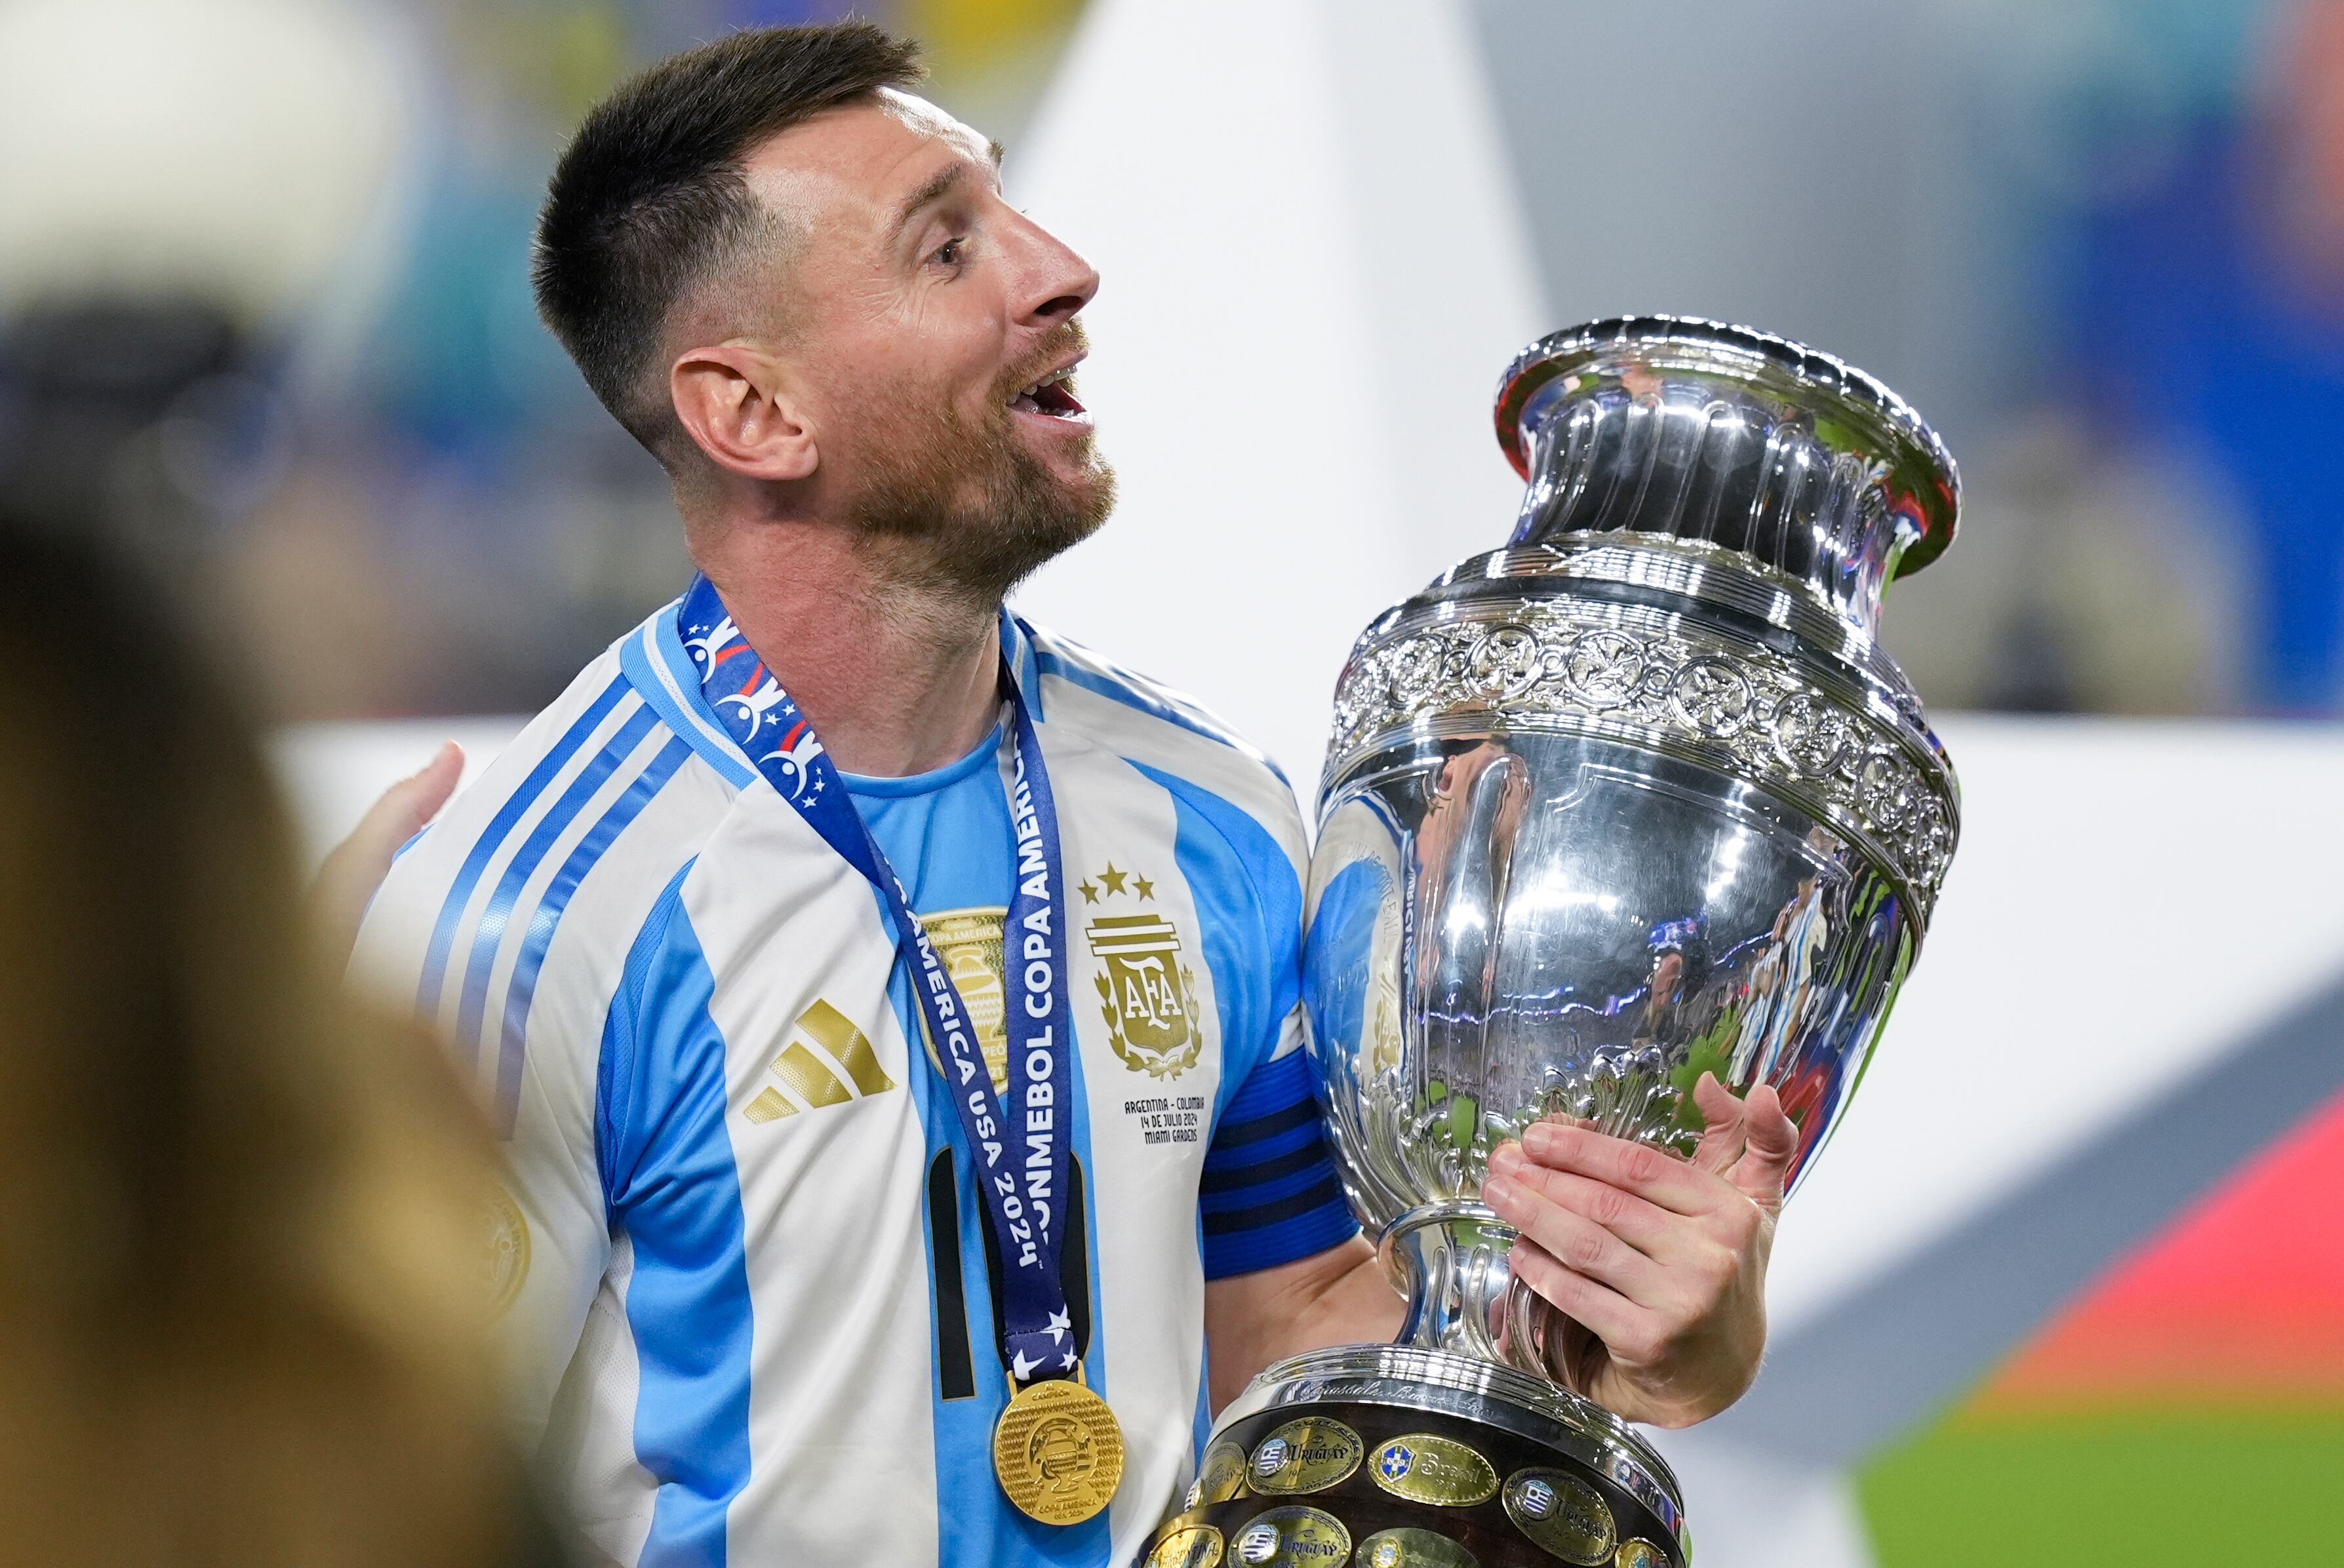
[[[1275,762],[1193,696],[1020,621],[1041,673],[1048,727],[1067,727],[1142,769],[1214,818],[1242,816],[1301,877],[1308,846],[1294,785]]]

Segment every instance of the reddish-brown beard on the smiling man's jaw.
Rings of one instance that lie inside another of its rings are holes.
[[[1062,478],[1017,441],[1010,396],[1069,347],[1074,323],[1052,333],[994,387],[992,413],[970,422],[945,396],[902,387],[881,398],[888,417],[865,427],[870,480],[849,520],[891,555],[902,586],[999,605],[1043,563],[1099,532],[1116,504],[1116,471],[1085,431],[1076,473]]]

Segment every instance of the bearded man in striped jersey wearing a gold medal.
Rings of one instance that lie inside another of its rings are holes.
[[[774,28],[586,117],[537,298],[701,577],[359,940],[509,1139],[523,1420],[621,1563],[1127,1563],[1212,1409],[1399,1327],[1301,1050],[1292,790],[1003,609],[1109,513],[1099,279],[917,80]],[[1488,1184],[1582,1392],[1664,1425],[1756,1376],[1793,1148],[1699,1102],[1695,1163],[1542,1125]]]

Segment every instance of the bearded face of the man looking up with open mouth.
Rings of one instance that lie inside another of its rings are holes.
[[[1067,380],[1099,279],[1001,199],[984,138],[884,91],[771,138],[748,180],[799,237],[774,347],[856,527],[984,600],[1099,527],[1113,471]]]

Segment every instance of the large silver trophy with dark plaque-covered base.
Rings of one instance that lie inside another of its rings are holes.
[[[1310,1059],[1397,1345],[1270,1366],[1158,1566],[1683,1566],[1683,1500],[1568,1392],[1488,1153],[1542,1116],[1690,1153],[1692,1085],[1772,1083],[1814,1167],[1960,832],[1880,649],[1960,483],[1887,387],[1711,321],[1524,352],[1505,548],[1385,612],[1336,687],[1310,863]]]

